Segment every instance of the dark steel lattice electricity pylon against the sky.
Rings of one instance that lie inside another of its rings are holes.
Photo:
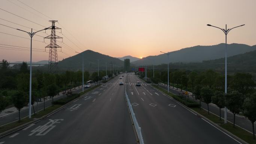
[[[52,31],[51,31],[51,35],[45,37],[45,39],[51,39],[51,42],[45,48],[49,48],[48,71],[54,73],[58,70],[57,48],[61,48],[61,46],[58,46],[56,44],[56,39],[62,39],[62,37],[56,36],[55,34],[55,30],[61,30],[61,28],[55,27],[55,22],[58,22],[58,21],[49,21],[49,22],[52,22],[52,26],[48,27],[48,29],[51,29]]]

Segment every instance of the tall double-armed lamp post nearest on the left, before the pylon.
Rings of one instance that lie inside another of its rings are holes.
[[[47,30],[48,28],[45,28],[43,30]],[[16,29],[19,31],[24,31],[24,30],[20,30],[20,29]],[[42,30],[40,30],[42,31]],[[28,118],[31,118],[31,82],[32,82],[32,37],[39,31],[36,31],[33,33],[33,30],[31,28],[31,33],[24,31],[25,33],[27,33],[31,40],[30,40],[30,78],[29,78],[29,111],[28,111]]]

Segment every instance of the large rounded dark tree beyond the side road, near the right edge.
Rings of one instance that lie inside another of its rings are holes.
[[[253,92],[255,82],[252,79],[252,74],[249,73],[236,73],[232,80],[231,88],[242,93],[248,94]]]

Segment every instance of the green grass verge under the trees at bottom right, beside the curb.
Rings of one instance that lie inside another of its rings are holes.
[[[235,126],[233,128],[233,124],[228,122],[224,123],[224,120],[219,120],[219,117],[214,114],[208,114],[208,112],[202,108],[191,108],[192,110],[198,112],[202,116],[206,117],[207,119],[211,120],[212,122],[216,123],[220,127],[226,129],[227,131],[231,132],[235,136],[241,138],[242,140],[246,141],[249,144],[256,144],[256,140],[253,140],[253,135],[250,132],[245,131],[244,129]]]

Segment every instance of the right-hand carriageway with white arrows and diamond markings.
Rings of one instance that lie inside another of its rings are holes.
[[[127,94],[145,144],[238,144],[168,96],[128,74]]]

